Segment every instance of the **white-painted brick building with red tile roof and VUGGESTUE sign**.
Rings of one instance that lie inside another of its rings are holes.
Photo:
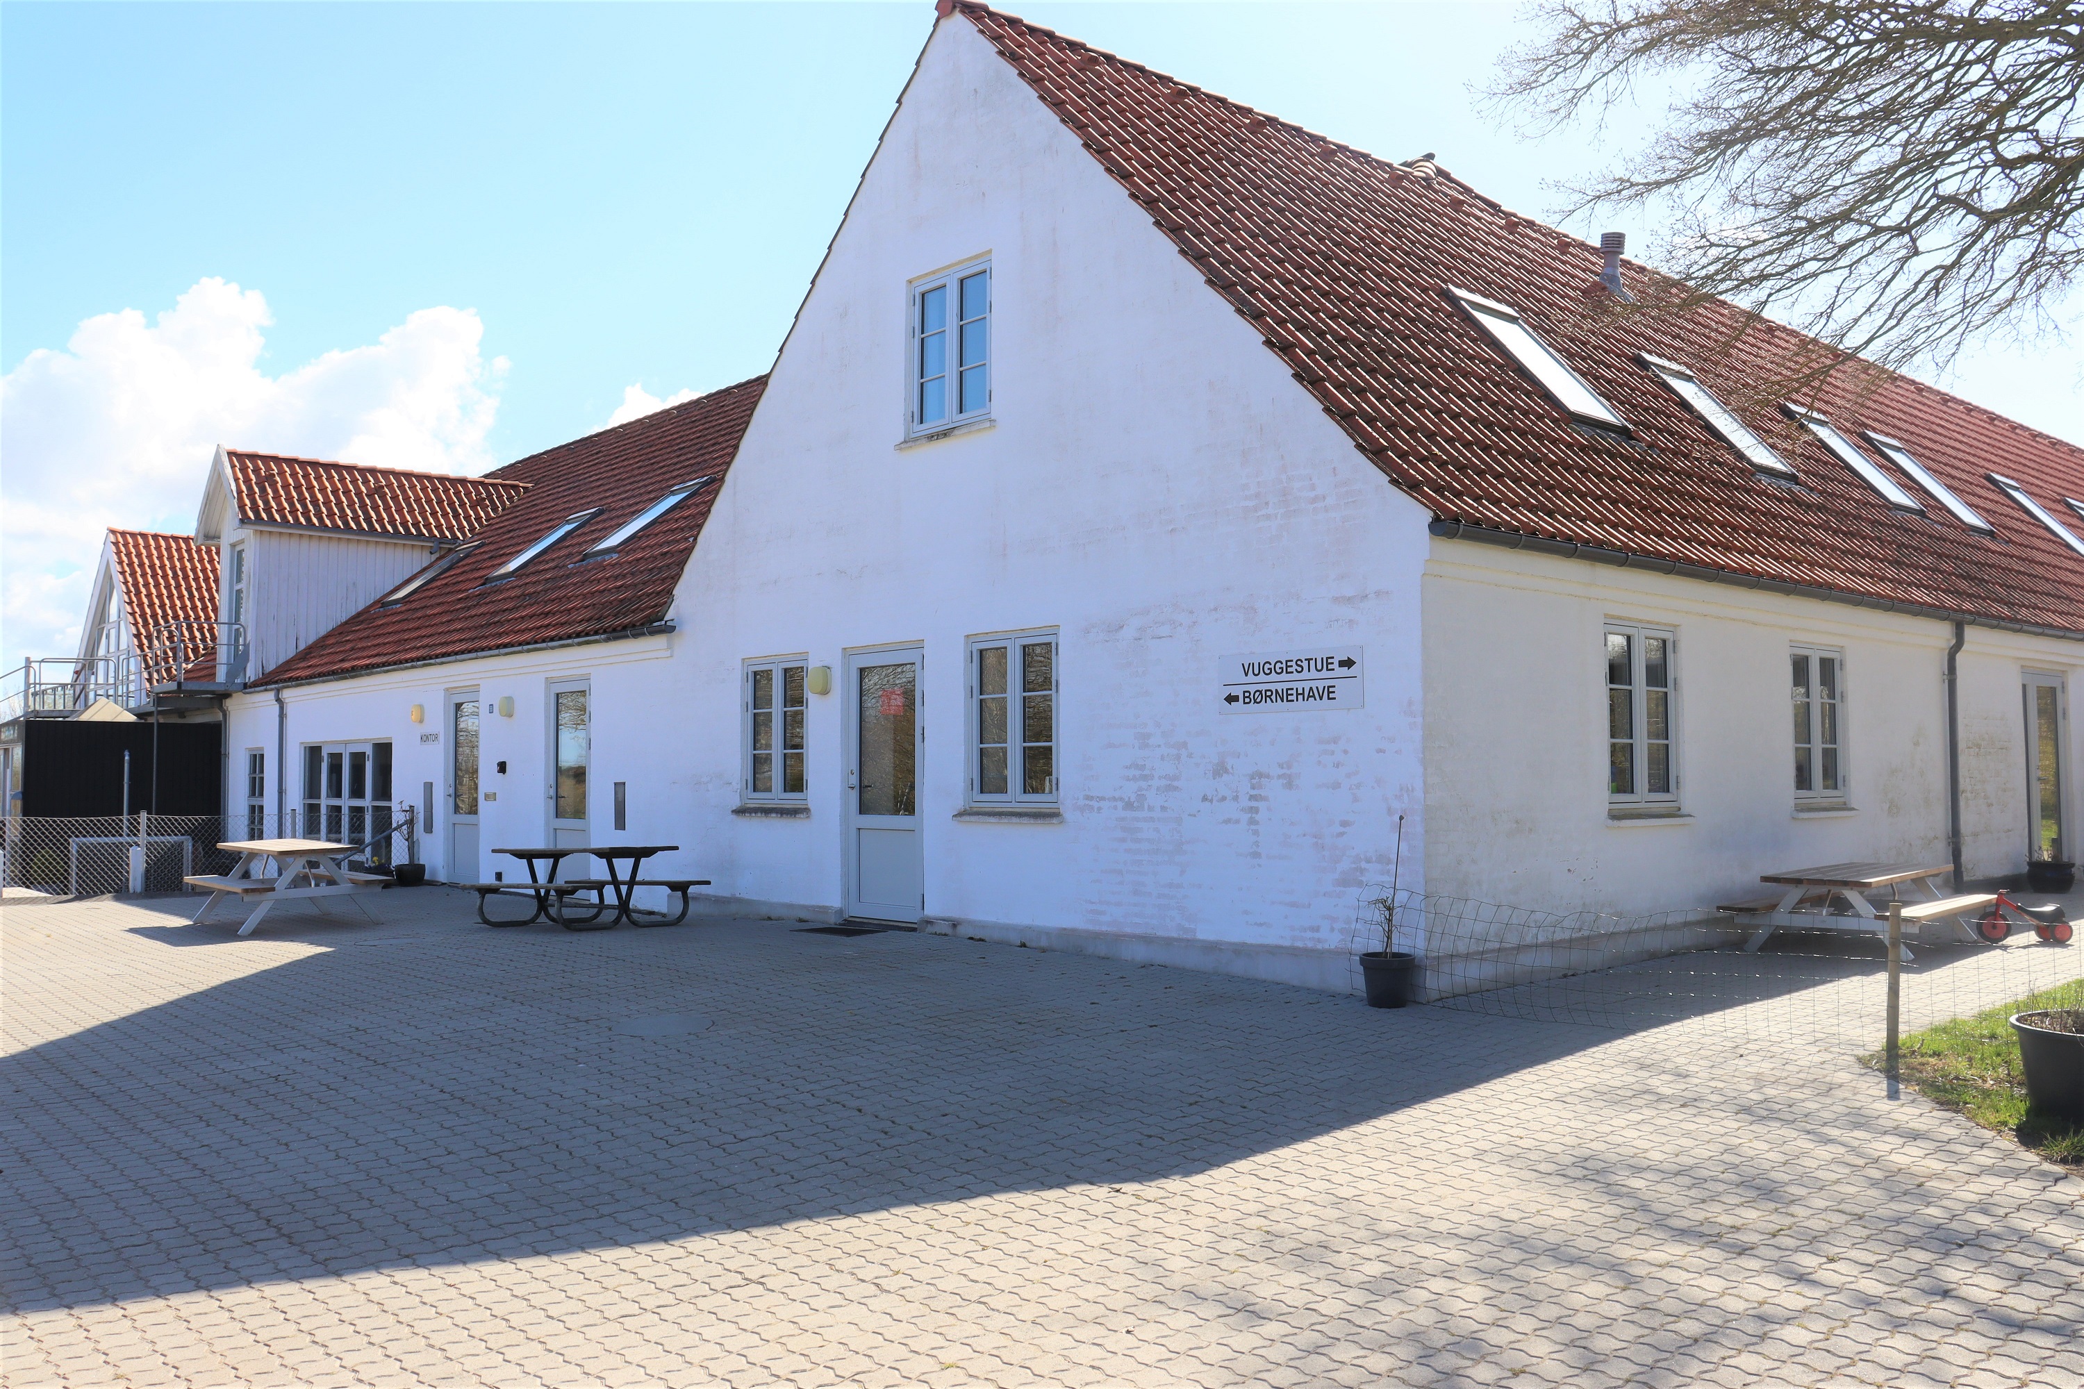
[[[1407,885],[1548,910],[2071,856],[2084,452],[1782,400],[1817,344],[1642,279],[944,4],[765,385],[494,473],[229,746],[323,818],[386,743],[452,881],[677,843],[713,910],[1323,987],[1398,816]]]

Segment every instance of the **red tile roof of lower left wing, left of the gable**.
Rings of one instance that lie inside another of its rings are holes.
[[[450,569],[404,602],[381,600],[288,658],[256,685],[342,677],[446,656],[636,631],[667,616],[694,539],[752,421],[767,377],[754,377],[644,419],[496,469],[527,483]],[[579,556],[675,483],[715,481],[638,531],[613,556]],[[567,516],[600,508],[515,577],[486,577]],[[440,560],[436,560],[440,562]]]

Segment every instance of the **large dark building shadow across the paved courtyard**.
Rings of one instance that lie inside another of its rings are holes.
[[[13,1056],[17,1310],[1148,1183],[1615,1037],[948,937],[463,910],[277,916],[331,948]],[[106,935],[150,970],[235,927]]]

